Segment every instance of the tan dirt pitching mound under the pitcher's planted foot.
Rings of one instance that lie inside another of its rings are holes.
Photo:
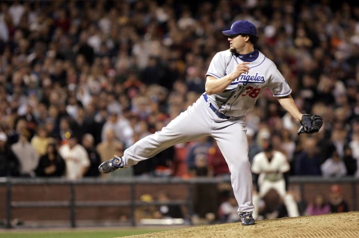
[[[226,223],[197,226],[150,234],[125,236],[131,238],[193,238],[193,237],[359,237],[359,212],[300,216],[293,218],[264,220],[253,226]]]

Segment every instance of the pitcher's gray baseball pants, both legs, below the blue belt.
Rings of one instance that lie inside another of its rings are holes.
[[[148,135],[127,148],[123,156],[125,166],[135,165],[168,147],[202,136],[212,136],[225,157],[238,212],[253,211],[252,173],[244,116],[220,118],[202,96],[161,131]]]

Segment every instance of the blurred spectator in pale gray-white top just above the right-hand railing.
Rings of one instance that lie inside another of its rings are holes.
[[[321,165],[322,175],[325,177],[343,177],[347,174],[347,169],[336,150],[332,156]]]

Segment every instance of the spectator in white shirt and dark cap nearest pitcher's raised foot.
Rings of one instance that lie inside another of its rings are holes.
[[[68,180],[77,180],[82,178],[90,167],[90,160],[86,149],[78,144],[78,136],[67,132],[66,144],[63,144],[58,153],[64,158],[66,164],[66,178]]]

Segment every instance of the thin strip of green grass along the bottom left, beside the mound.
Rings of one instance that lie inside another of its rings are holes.
[[[126,235],[146,234],[169,229],[117,229],[117,230],[64,230],[64,231],[0,231],[0,238],[113,238]]]

